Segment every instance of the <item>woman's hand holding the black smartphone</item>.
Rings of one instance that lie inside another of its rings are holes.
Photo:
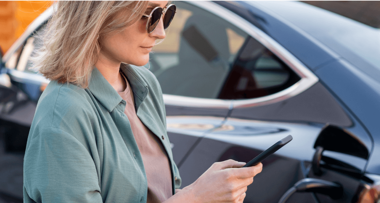
[[[261,163],[241,168],[244,164],[231,159],[216,162],[193,184],[180,190],[179,194],[192,194],[190,196],[196,203],[242,203],[247,186],[253,182],[253,176],[263,168]]]

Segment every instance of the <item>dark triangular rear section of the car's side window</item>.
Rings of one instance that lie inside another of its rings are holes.
[[[284,90],[299,80],[300,77],[283,61],[250,37],[237,57],[219,98],[267,96]]]

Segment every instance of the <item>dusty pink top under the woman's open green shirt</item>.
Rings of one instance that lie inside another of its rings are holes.
[[[161,203],[173,195],[169,159],[159,138],[137,117],[133,92],[127,79],[125,82],[127,88],[119,95],[127,103],[124,113],[130,121],[144,163],[148,181],[147,203]]]

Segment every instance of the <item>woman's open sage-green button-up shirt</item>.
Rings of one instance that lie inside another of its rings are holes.
[[[121,65],[137,116],[169,156],[173,194],[181,179],[166,133],[165,105],[155,76]],[[97,68],[89,88],[51,81],[38,101],[24,157],[24,202],[146,202],[141,154],[125,101]]]

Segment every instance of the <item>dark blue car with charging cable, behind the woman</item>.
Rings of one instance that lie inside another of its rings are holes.
[[[245,203],[379,202],[380,30],[302,2],[175,2],[146,68],[164,93],[182,187],[212,163],[278,140]],[[49,82],[30,71],[38,17],[2,57],[0,197],[22,201],[22,161]],[[10,200],[11,199],[11,200]]]

